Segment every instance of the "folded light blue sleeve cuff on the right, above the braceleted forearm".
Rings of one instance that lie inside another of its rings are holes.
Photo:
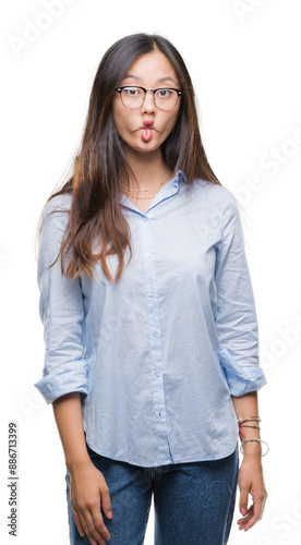
[[[225,348],[219,349],[218,355],[231,396],[240,397],[267,384],[258,365],[240,365]]]

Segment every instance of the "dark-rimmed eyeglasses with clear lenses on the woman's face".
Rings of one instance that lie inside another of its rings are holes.
[[[155,105],[160,110],[172,110],[179,100],[179,96],[183,95],[180,89],[170,87],[159,87],[158,89],[145,89],[144,87],[132,87],[125,85],[118,87],[117,93],[120,94],[121,101],[125,108],[141,108],[147,92],[153,93]]]

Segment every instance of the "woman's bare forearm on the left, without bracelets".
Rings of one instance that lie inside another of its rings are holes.
[[[53,401],[52,407],[65,464],[69,472],[72,472],[76,467],[89,461],[84,435],[81,393],[67,393]]]

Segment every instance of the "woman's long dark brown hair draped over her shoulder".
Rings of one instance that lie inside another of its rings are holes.
[[[130,66],[156,49],[172,64],[183,90],[177,122],[161,146],[162,157],[172,171],[183,171],[189,185],[197,178],[220,184],[202,144],[191,77],[174,46],[161,36],[147,34],[133,34],[116,41],[97,69],[73,174],[47,201],[72,194],[68,227],[57,257],[61,256],[61,270],[67,278],[75,278],[81,271],[93,278],[92,266],[100,259],[105,276],[118,282],[127,247],[130,258],[132,256],[130,228],[119,203],[120,185],[129,182],[130,166],[116,130],[111,105],[115,89]],[[94,254],[93,244],[98,239],[100,253]],[[65,270],[64,262],[70,253]],[[115,279],[107,265],[107,256],[112,254],[117,254],[119,263]]]

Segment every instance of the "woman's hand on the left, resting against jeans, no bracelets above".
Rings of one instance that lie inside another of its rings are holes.
[[[100,508],[111,519],[111,501],[106,480],[92,461],[70,471],[70,500],[80,535],[86,534],[92,545],[105,545],[110,540]]]

